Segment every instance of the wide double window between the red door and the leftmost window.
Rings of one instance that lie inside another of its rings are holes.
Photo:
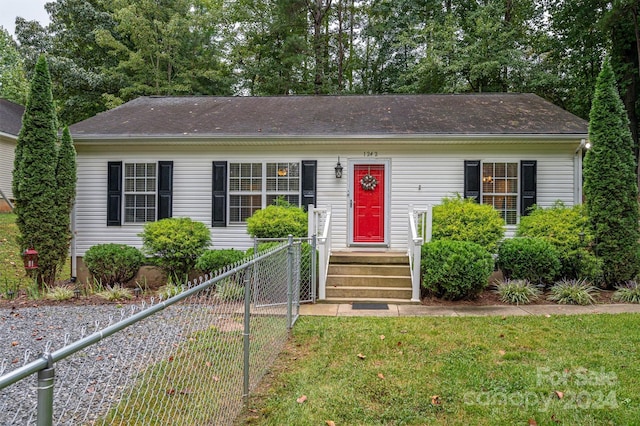
[[[280,197],[300,206],[299,163],[229,163],[229,223],[246,222]]]

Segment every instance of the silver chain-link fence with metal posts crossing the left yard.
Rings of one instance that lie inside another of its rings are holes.
[[[3,312],[0,424],[232,423],[297,318],[301,246],[290,239],[146,306]],[[58,340],[19,366],[7,348],[16,316],[30,315],[27,327]]]

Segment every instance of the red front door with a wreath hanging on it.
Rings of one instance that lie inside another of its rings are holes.
[[[384,164],[353,166],[353,242],[384,243]]]

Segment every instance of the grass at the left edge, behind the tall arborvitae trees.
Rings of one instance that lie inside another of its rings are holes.
[[[5,297],[9,291],[15,291],[16,288],[27,290],[31,285],[31,278],[25,275],[20,247],[16,242],[19,234],[16,215],[0,213],[0,294]],[[70,262],[65,262],[58,271],[58,279],[70,276]]]

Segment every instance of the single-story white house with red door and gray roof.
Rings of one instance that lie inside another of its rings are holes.
[[[77,257],[140,247],[145,222],[172,216],[207,224],[213,248],[247,249],[246,219],[277,197],[329,209],[333,252],[407,253],[410,210],[456,193],[512,234],[533,204],[581,202],[588,137],[585,120],[516,93],[152,96],[71,132]]]

